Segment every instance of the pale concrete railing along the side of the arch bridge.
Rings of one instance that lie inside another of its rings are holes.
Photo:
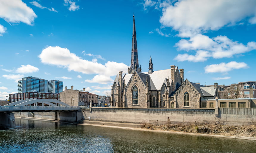
[[[0,111],[79,110],[78,106],[0,106]]]

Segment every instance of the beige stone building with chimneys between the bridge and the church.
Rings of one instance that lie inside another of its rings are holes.
[[[74,90],[74,87],[71,86],[71,89],[67,89],[60,92],[60,101],[64,102],[70,106],[88,106],[90,105],[90,100],[92,100],[92,105],[96,106],[98,104],[98,95],[89,93],[83,90]]]

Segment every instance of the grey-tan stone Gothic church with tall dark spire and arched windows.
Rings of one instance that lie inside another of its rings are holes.
[[[200,100],[214,99],[218,84],[206,87],[184,82],[184,70],[171,65],[167,70],[153,70],[149,58],[148,72],[139,65],[135,19],[133,16],[132,56],[128,74],[116,75],[111,89],[111,106],[128,108],[200,108]],[[207,89],[206,89],[207,88]]]

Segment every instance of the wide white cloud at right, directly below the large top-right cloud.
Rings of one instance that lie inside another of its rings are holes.
[[[230,58],[256,49],[256,42],[248,42],[243,45],[234,42],[227,36],[217,36],[213,39],[208,36],[197,34],[189,40],[182,39],[175,45],[178,50],[196,51],[196,55],[179,54],[175,59],[178,61],[206,61],[209,57],[215,59]],[[194,60],[195,59],[195,60]]]

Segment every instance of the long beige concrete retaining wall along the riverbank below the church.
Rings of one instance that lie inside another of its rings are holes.
[[[166,123],[210,123],[247,125],[256,123],[256,108],[176,109],[176,108],[91,108],[82,110],[83,118],[109,122],[151,124]]]

